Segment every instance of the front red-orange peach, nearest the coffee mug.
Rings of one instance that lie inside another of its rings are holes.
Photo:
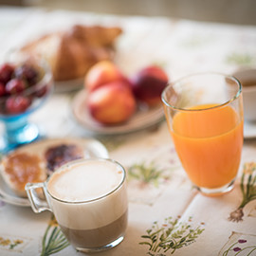
[[[87,107],[91,116],[103,124],[117,124],[129,119],[136,111],[135,97],[123,82],[110,82],[88,94]]]

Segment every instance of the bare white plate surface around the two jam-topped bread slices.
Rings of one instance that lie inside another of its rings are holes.
[[[34,142],[32,144],[28,144],[22,148],[16,150],[16,152],[27,152],[27,153],[37,153],[38,155],[42,155],[46,152],[48,147],[53,145],[59,145],[61,143],[75,143],[82,147],[85,158],[90,157],[101,157],[108,158],[108,152],[106,148],[101,144],[100,141],[90,138],[52,138],[41,140],[38,142]],[[27,198],[22,198],[15,193],[11,192],[8,185],[4,181],[2,175],[0,174],[0,200],[16,205],[27,207],[30,206]]]

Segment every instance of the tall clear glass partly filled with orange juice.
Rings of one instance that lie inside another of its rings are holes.
[[[162,92],[176,153],[203,194],[233,188],[244,141],[242,99],[241,83],[218,73],[184,77]]]

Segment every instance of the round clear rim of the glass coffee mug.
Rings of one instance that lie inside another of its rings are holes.
[[[111,162],[115,165],[118,165],[120,167],[120,170],[122,171],[123,173],[123,176],[122,176],[122,179],[121,181],[119,182],[119,185],[114,188],[113,190],[111,190],[110,192],[107,192],[99,197],[96,197],[94,199],[89,199],[89,200],[82,200],[82,201],[68,201],[68,200],[64,200],[64,199],[60,199],[56,196],[54,196],[53,194],[51,194],[49,191],[48,191],[48,188],[47,188],[47,184],[51,178],[51,176],[53,174],[57,174],[57,173],[60,173],[62,172],[67,166],[69,165],[76,165],[78,163],[81,163],[81,162],[90,162],[90,161],[101,161],[101,162]],[[51,174],[47,179],[46,179],[46,182],[44,182],[44,187],[46,188],[46,192],[50,195],[51,198],[61,202],[61,203],[65,203],[65,204],[69,204],[69,205],[78,205],[78,204],[88,204],[88,203],[92,203],[92,202],[96,202],[96,201],[99,201],[101,200],[102,198],[105,198],[107,196],[109,196],[110,194],[114,193],[114,192],[117,192],[119,190],[119,188],[123,185],[124,181],[125,181],[125,178],[126,178],[126,172],[125,172],[125,169],[124,167],[116,160],[113,160],[113,159],[110,159],[110,158],[100,158],[100,157],[92,157],[92,158],[80,158],[80,159],[77,159],[77,160],[73,160],[73,161],[70,161],[70,162],[67,162],[65,163],[64,165],[62,165],[56,172],[54,172],[53,174]]]

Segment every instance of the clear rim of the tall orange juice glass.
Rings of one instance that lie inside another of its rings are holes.
[[[192,77],[196,77],[196,76],[202,76],[202,75],[214,75],[214,76],[220,76],[220,77],[224,77],[224,78],[229,78],[230,80],[236,82],[236,84],[238,85],[238,90],[237,90],[237,93],[229,99],[229,101],[224,101],[223,103],[218,103],[216,105],[213,105],[213,106],[210,106],[210,107],[205,107],[205,108],[200,108],[200,109],[196,109],[196,108],[183,108],[183,107],[176,107],[172,104],[170,104],[167,99],[166,99],[166,93],[167,91],[171,88],[171,87],[174,87],[174,84],[178,83],[178,82],[182,82],[182,81],[185,81],[186,79],[189,79],[189,78],[192,78]],[[174,110],[178,110],[178,111],[183,111],[183,112],[196,112],[196,111],[205,111],[205,110],[210,110],[210,109],[216,109],[216,108],[220,108],[220,107],[223,107],[225,105],[228,105],[230,102],[232,101],[235,101],[236,99],[239,98],[239,96],[242,94],[242,83],[234,76],[232,75],[227,75],[227,74],[224,74],[224,73],[219,73],[219,72],[198,72],[198,73],[192,73],[192,74],[189,74],[187,76],[184,76],[174,82],[170,82],[165,88],[164,90],[162,91],[161,93],[161,100],[162,102],[174,109]]]

